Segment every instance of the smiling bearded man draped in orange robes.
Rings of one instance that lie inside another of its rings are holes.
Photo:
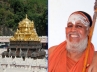
[[[66,41],[49,49],[48,72],[82,72],[91,25],[92,19],[86,12],[76,11],[70,15]],[[97,72],[96,56],[91,43],[85,72]]]

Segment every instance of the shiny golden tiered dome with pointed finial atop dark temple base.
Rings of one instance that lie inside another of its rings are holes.
[[[34,22],[27,18],[19,22],[18,29],[14,36],[10,38],[11,41],[40,41]]]

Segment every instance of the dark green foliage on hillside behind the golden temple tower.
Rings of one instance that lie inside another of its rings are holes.
[[[27,14],[34,21],[38,35],[47,35],[47,0],[1,0],[0,3],[0,25],[15,31]]]

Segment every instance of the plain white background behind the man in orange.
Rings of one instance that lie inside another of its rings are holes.
[[[64,40],[65,27],[69,15],[74,11],[85,11],[93,17],[95,0],[48,0],[48,48]],[[95,23],[92,43],[97,50],[97,23]]]

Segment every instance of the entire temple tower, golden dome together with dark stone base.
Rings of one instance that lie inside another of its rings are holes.
[[[34,22],[27,18],[18,23],[18,29],[10,38],[10,45],[2,57],[44,57],[46,52],[34,27]]]

